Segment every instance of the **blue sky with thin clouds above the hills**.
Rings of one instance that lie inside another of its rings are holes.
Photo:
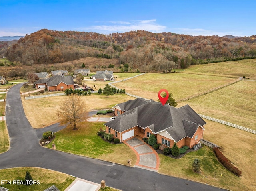
[[[0,0],[0,36],[47,28],[256,35],[256,0]]]

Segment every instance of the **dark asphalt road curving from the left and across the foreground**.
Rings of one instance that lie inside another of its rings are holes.
[[[95,183],[105,180],[107,186],[124,191],[223,190],[193,181],[160,175],[156,172],[136,167],[117,165],[43,148],[39,144],[42,132],[47,130],[56,132],[64,127],[53,125],[44,129],[33,129],[22,108],[19,91],[21,86],[22,84],[15,85],[7,94],[6,123],[10,135],[10,150],[0,154],[0,169],[42,167]]]

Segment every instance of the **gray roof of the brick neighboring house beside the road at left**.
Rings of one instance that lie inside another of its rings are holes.
[[[62,75],[55,75],[50,78],[40,79],[36,81],[35,84],[46,83],[47,86],[56,86],[61,82],[65,83],[66,85],[74,84],[74,80],[72,76],[62,76]]]

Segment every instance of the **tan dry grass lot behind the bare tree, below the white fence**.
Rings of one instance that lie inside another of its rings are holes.
[[[55,96],[32,100],[25,100],[24,96],[21,96],[21,98],[24,112],[32,127],[42,128],[59,121],[56,111],[66,96]],[[92,94],[90,96],[82,96],[81,98],[87,105],[87,111],[112,108],[118,103],[126,102],[130,99],[135,99],[126,94],[116,94],[107,98],[107,96],[98,95],[98,93]]]

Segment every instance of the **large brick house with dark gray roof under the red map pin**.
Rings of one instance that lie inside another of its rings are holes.
[[[119,105],[119,104],[118,104]],[[116,110],[116,108],[115,108]],[[120,114],[104,125],[106,132],[124,141],[134,136],[149,137],[154,134],[157,143],[172,147],[192,148],[203,138],[206,122],[188,105],[175,108],[149,101]]]

